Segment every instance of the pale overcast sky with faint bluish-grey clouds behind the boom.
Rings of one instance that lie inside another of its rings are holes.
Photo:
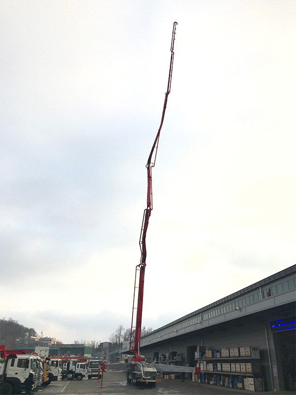
[[[295,0],[1,0],[0,316],[64,343],[295,264]],[[4,295],[4,297],[3,297]]]

